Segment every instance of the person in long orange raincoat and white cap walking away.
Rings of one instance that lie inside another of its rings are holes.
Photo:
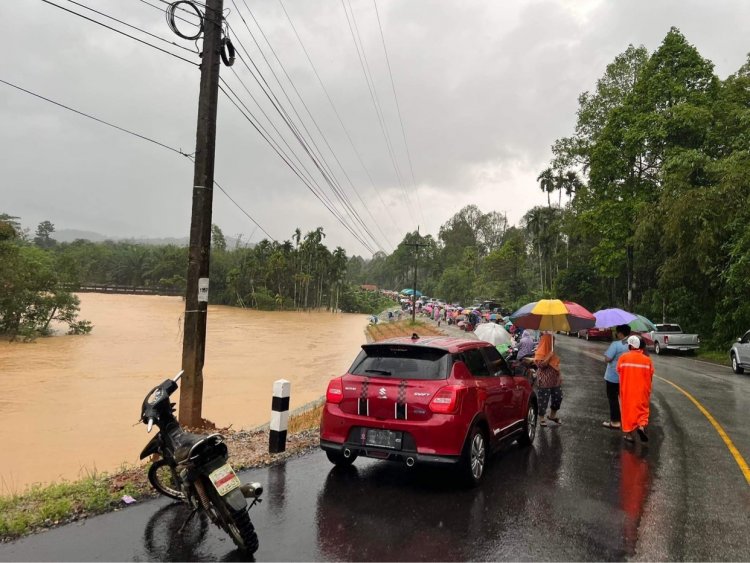
[[[620,375],[620,414],[625,439],[634,442],[634,434],[648,442],[649,401],[651,382],[654,377],[654,364],[641,349],[641,339],[635,335],[628,337],[628,348],[617,360],[617,373]]]

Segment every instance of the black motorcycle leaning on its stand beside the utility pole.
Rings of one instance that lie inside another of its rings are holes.
[[[203,512],[240,550],[252,555],[258,549],[258,535],[248,511],[261,502],[263,487],[240,482],[227,463],[228,450],[221,434],[192,434],[182,429],[174,416],[175,403],[169,401],[182,374],[164,380],[143,400],[141,422],[149,433],[154,425],[159,428],[141,452],[141,459],[159,456],[148,470],[148,480],[159,493],[192,508],[180,533],[196,513]],[[246,499],[252,499],[250,507]]]

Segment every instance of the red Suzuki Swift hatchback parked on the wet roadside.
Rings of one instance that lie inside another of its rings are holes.
[[[320,446],[336,465],[357,456],[458,465],[476,484],[488,450],[531,445],[536,423],[532,381],[514,375],[494,346],[414,335],[363,345],[329,382]]]

